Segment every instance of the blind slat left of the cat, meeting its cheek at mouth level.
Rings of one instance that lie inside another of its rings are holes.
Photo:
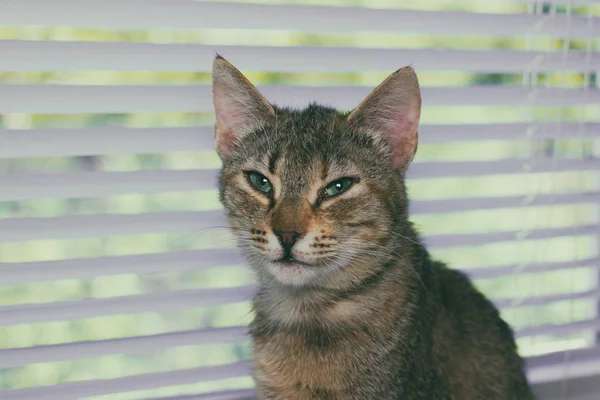
[[[60,279],[89,279],[106,275],[148,274],[167,270],[199,271],[245,263],[241,255],[232,249],[0,263],[0,286]]]

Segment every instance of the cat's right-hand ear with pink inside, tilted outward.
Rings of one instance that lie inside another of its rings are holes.
[[[383,81],[348,116],[352,128],[387,141],[392,164],[405,170],[418,144],[421,91],[415,71],[399,69]]]

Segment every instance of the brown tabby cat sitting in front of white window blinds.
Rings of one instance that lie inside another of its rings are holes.
[[[421,95],[399,69],[349,113],[271,105],[213,64],[219,196],[259,291],[260,400],[528,400],[511,328],[408,219]]]

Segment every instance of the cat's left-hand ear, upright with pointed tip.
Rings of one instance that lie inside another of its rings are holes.
[[[216,147],[226,158],[245,135],[267,124],[275,111],[254,85],[221,56],[213,62],[212,78]]]

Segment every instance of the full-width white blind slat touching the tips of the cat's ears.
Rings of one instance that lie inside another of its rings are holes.
[[[3,71],[211,72],[219,53],[245,72],[417,71],[512,73],[593,71],[600,54],[572,51],[365,49],[355,47],[222,46],[123,42],[0,41]]]

